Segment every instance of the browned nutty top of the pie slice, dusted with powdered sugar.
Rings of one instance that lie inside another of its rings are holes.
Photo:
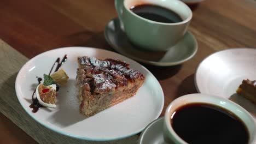
[[[102,61],[95,57],[78,57],[78,62],[86,72],[84,82],[92,85],[91,90],[95,92],[108,92],[119,85],[126,85],[127,79],[144,77],[138,70],[129,69],[129,63],[116,59]]]

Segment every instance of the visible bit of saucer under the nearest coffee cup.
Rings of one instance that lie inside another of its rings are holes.
[[[164,134],[162,133],[162,127],[164,123],[164,117],[160,117],[150,123],[141,133],[139,137],[139,144],[167,144],[164,141]]]

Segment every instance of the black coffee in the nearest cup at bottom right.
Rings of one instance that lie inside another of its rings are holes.
[[[194,103],[179,107],[171,117],[175,133],[188,143],[248,143],[245,124],[219,106]]]

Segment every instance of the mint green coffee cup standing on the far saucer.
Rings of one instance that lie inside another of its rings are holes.
[[[152,4],[173,11],[181,22],[164,23],[145,19],[130,8]],[[192,18],[190,8],[179,0],[115,0],[115,9],[124,32],[131,43],[148,51],[167,51],[183,38]]]

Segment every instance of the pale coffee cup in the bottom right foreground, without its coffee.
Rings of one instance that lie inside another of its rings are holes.
[[[249,143],[256,143],[256,124],[254,118],[251,116],[249,112],[247,112],[240,105],[224,98],[216,97],[208,94],[188,94],[182,97],[179,97],[172,101],[172,103],[167,107],[165,111],[164,117],[164,138],[168,143],[182,143],[185,142],[172,128],[171,125],[171,117],[173,113],[179,109],[179,107],[191,103],[206,103],[211,105],[216,105],[218,107],[222,107],[234,113],[238,118],[240,118],[244,123],[249,132]],[[189,119],[188,119],[189,121]],[[207,143],[207,142],[206,142]]]

